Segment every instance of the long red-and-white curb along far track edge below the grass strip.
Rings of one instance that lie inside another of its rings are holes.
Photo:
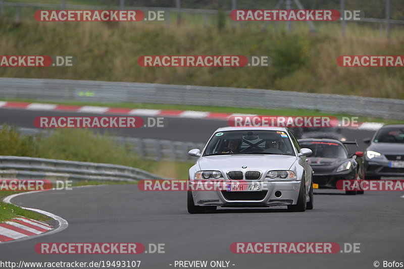
[[[118,115],[136,115],[149,117],[175,117],[188,119],[207,119],[207,120],[228,120],[233,116],[259,116],[256,114],[239,114],[239,113],[216,113],[191,110],[156,110],[156,109],[123,109],[107,106],[91,106],[91,105],[64,105],[51,103],[29,103],[29,102],[7,102],[0,101],[0,108],[6,109],[22,109],[31,111],[66,111],[77,113],[96,113],[96,114],[118,114]],[[382,127],[382,123],[364,122],[358,127],[349,127],[359,130],[376,131]]]

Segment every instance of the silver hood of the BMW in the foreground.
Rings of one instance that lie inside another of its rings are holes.
[[[289,170],[296,161],[296,156],[289,155],[214,155],[200,157],[200,170],[240,170],[246,166],[247,170]]]

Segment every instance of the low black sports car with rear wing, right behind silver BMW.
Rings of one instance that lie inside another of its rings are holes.
[[[346,144],[335,139],[306,138],[298,140],[300,147],[310,148],[309,164],[313,168],[313,183],[319,188],[336,188],[338,180],[363,179],[362,151],[349,154]],[[363,194],[363,190],[346,191],[346,194]]]

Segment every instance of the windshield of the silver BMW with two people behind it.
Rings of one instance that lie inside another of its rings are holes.
[[[209,141],[204,156],[222,154],[294,155],[289,135],[283,131],[217,132]]]

